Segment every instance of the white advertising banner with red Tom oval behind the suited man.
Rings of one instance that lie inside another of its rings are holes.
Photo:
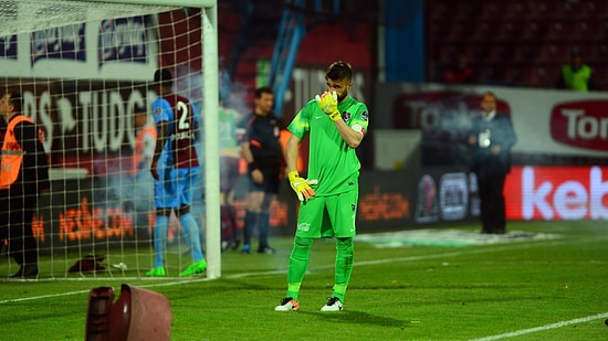
[[[600,157],[608,150],[608,93],[578,93],[502,86],[379,84],[376,129],[419,129],[423,152],[458,158],[481,94],[499,97],[499,110],[513,120],[513,152]]]

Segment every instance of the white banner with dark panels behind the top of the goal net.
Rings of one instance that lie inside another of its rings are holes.
[[[0,72],[14,78],[147,81],[157,68],[154,15],[0,36]]]

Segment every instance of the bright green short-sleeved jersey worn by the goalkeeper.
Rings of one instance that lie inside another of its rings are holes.
[[[366,132],[368,111],[365,104],[348,97],[338,104],[338,110],[347,126],[361,134]],[[316,100],[308,102],[287,129],[300,139],[310,135],[306,178],[318,180],[318,184],[313,185],[317,196],[357,189],[360,162],[355,148],[344,141],[335,124],[323,113]]]

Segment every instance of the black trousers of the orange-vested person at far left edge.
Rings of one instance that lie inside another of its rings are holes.
[[[38,263],[36,242],[32,232],[36,200],[36,194],[0,191],[0,242],[8,241],[9,255],[19,265]]]

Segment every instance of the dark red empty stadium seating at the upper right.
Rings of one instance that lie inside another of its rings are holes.
[[[426,10],[429,67],[447,67],[455,51],[469,57],[478,82],[553,87],[576,46],[598,88],[608,88],[599,77],[608,74],[608,1],[427,0]]]

